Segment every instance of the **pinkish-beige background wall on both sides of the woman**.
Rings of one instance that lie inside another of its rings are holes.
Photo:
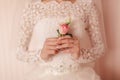
[[[18,26],[16,16],[27,0],[0,0],[0,80],[17,80],[31,67],[15,58]],[[97,63],[103,80],[120,80],[120,0],[103,0],[108,50]],[[18,14],[19,13],[19,14]],[[14,16],[14,17],[13,17]]]

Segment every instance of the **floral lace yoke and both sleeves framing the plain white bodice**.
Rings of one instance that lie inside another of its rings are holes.
[[[48,3],[37,1],[30,3],[23,14],[21,37],[17,50],[18,58],[26,62],[40,61],[40,49],[29,50],[29,43],[35,24],[39,19],[48,16],[64,17],[66,15],[78,16],[86,25],[89,25],[87,32],[91,39],[92,48],[81,49],[81,56],[76,61],[88,63],[99,58],[104,52],[104,44],[99,29],[99,15],[93,0],[76,0],[74,3],[70,1],[61,3],[56,1]]]

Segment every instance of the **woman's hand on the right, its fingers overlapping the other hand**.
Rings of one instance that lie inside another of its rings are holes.
[[[76,37],[63,36],[58,39],[57,48],[65,53],[71,53],[75,59],[80,57],[80,41]]]

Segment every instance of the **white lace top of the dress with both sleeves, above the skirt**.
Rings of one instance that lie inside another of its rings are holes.
[[[77,60],[73,60],[70,55],[61,53],[61,55],[53,57],[49,64],[59,67],[61,65],[58,63],[78,65],[78,63],[92,62],[103,55],[104,44],[100,32],[99,14],[93,0],[76,0],[74,3],[70,1],[58,3],[55,0],[43,3],[39,0],[31,2],[24,10],[21,37],[17,49],[18,58],[26,62],[42,61],[40,51],[45,38],[57,36],[55,25],[68,15],[73,20],[71,33],[79,39],[82,39],[86,33],[92,46],[81,47],[81,56]],[[37,36],[35,36],[36,34]],[[32,39],[35,39],[36,43],[34,43],[34,48],[30,49],[30,43],[34,41]],[[64,60],[68,60],[68,63],[65,63]]]

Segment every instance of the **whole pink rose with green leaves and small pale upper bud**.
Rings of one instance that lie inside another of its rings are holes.
[[[62,23],[59,23],[59,29],[57,29],[58,37],[69,35],[72,37],[72,34],[69,33],[70,30],[70,23],[71,23],[71,18],[66,17],[65,21]]]

